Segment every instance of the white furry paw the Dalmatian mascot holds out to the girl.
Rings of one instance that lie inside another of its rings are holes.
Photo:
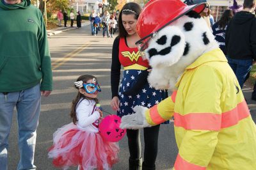
[[[151,127],[151,125],[147,123],[145,116],[145,111],[147,111],[147,109],[147,107],[136,105],[133,108],[133,111],[135,112],[134,114],[122,117],[120,128],[138,129]]]

